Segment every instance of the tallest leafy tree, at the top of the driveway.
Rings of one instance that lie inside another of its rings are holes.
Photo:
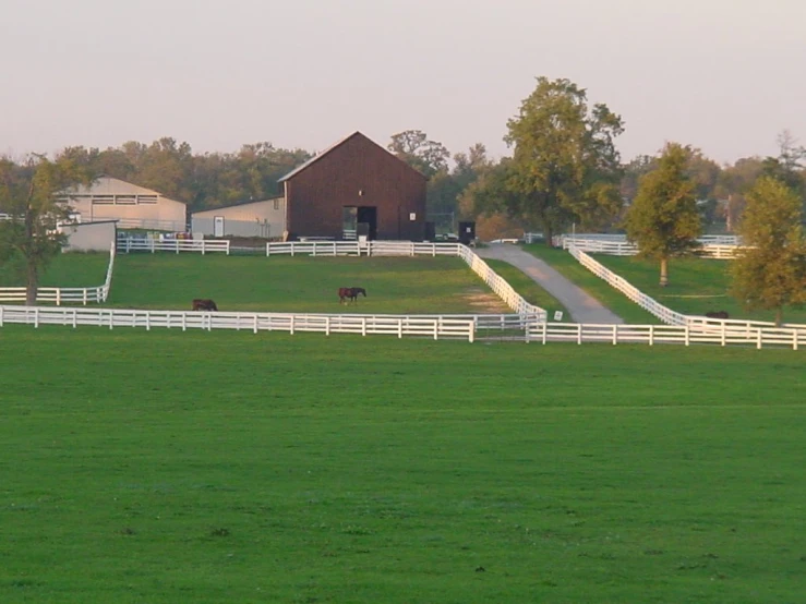
[[[589,110],[585,89],[538,77],[507,129],[504,141],[514,154],[506,189],[517,194],[509,214],[542,227],[550,244],[572,221],[597,228],[616,216],[622,167],[615,138],[624,125],[606,105]]]

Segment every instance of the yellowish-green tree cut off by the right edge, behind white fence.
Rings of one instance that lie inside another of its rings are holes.
[[[806,303],[806,239],[797,194],[772,177],[761,177],[747,194],[733,262],[733,294],[748,310],[775,311],[781,325],[785,306]]]

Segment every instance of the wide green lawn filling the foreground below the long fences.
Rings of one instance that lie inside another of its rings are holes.
[[[3,603],[803,601],[803,355],[0,329]]]

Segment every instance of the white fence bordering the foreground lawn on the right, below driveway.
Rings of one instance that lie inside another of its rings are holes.
[[[607,343],[677,343],[748,345],[756,348],[806,346],[806,328],[750,327],[730,325],[585,325],[578,323],[542,323],[527,329],[527,341],[607,342]]]

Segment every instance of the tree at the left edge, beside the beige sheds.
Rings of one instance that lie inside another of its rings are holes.
[[[50,161],[32,155],[22,164],[0,159],[0,261],[21,259],[25,266],[25,303],[36,304],[39,273],[61,251],[64,235],[57,229],[70,208],[56,201],[56,193],[85,173],[69,160]]]

